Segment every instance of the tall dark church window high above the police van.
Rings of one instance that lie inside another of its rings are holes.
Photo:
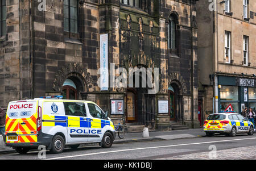
[[[78,2],[77,0],[64,0],[64,35],[70,38],[78,38]]]

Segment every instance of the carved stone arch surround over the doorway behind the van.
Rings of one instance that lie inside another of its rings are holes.
[[[65,64],[59,69],[53,81],[53,90],[61,91],[64,81],[69,77],[75,77],[81,82],[80,91],[94,91],[96,89],[96,82],[93,81],[87,69],[83,68],[81,64],[69,63]]]

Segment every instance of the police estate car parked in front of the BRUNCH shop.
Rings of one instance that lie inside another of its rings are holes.
[[[235,112],[210,114],[204,122],[207,136],[215,133],[236,136],[237,133],[253,135],[254,125],[247,118]]]

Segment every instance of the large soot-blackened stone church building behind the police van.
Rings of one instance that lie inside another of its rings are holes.
[[[63,95],[94,101],[128,127],[200,126],[197,0],[0,1],[1,107],[18,99]],[[114,64],[116,77],[118,68],[159,68],[155,94],[142,86],[142,76],[137,87],[110,87],[109,82],[101,90],[102,34],[108,35],[107,65],[110,72]]]

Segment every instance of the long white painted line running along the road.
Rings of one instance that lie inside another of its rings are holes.
[[[183,145],[198,145],[198,144],[220,143],[220,142],[226,142],[226,141],[251,140],[251,139],[256,139],[256,137],[245,138],[245,139],[234,139],[234,140],[207,141],[207,142],[201,142],[201,143],[188,143],[188,144],[175,144],[175,145],[164,145],[164,146],[143,147],[143,148],[133,148],[133,149],[121,149],[121,150],[117,150],[117,151],[97,152],[97,153],[89,153],[89,154],[83,154],[83,155],[73,155],[73,156],[54,157],[54,158],[50,158],[50,159],[46,159],[46,160],[56,160],[56,159],[65,159],[65,158],[71,158],[71,157],[81,157],[81,156],[100,155],[100,154],[105,154],[105,153],[115,153],[115,152],[124,152],[124,151],[135,151],[135,150],[139,150],[139,149],[177,147],[177,146],[183,146]]]

